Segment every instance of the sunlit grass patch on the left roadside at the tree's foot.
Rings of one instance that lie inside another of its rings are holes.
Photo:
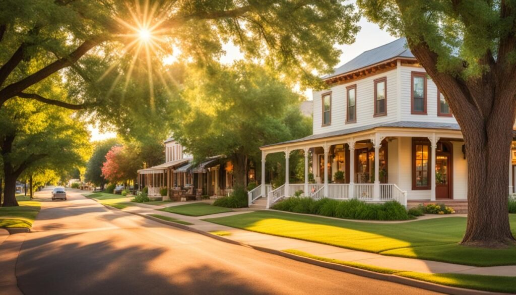
[[[19,201],[20,206],[0,207],[0,227],[31,228],[41,209],[38,201]]]

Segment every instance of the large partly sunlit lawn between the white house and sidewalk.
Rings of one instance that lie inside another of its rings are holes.
[[[466,227],[462,217],[377,224],[257,211],[206,221],[383,255],[471,266],[516,265],[516,247],[494,250],[460,246]],[[516,214],[510,214],[510,222],[516,235]]]

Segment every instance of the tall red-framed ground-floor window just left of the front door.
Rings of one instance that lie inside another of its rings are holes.
[[[412,189],[429,190],[430,185],[430,142],[412,139]]]

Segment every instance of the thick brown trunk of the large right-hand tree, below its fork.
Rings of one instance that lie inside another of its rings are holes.
[[[514,243],[507,209],[513,120],[510,112],[498,112],[489,117],[484,128],[462,128],[468,166],[464,245]]]

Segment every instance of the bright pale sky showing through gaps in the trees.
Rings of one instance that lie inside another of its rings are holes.
[[[368,22],[365,18],[360,20],[359,25],[361,26],[361,30],[357,34],[356,40],[353,44],[337,45],[337,48],[342,51],[342,55],[340,57],[341,61],[336,65],[336,68],[347,63],[354,57],[357,57],[364,51],[377,48],[378,46],[396,40],[396,37],[393,37],[385,30],[380,29],[377,24]],[[226,54],[220,60],[223,64],[230,64],[234,60],[242,58],[242,54],[239,52],[238,48],[232,44],[226,44],[224,46],[224,50],[226,51]],[[165,63],[168,62],[170,61],[165,60]],[[312,89],[304,91],[304,95],[308,100],[311,100]],[[88,126],[88,129],[91,132],[90,141],[92,142],[116,137],[117,135],[115,132],[100,132],[98,127],[91,125]]]

